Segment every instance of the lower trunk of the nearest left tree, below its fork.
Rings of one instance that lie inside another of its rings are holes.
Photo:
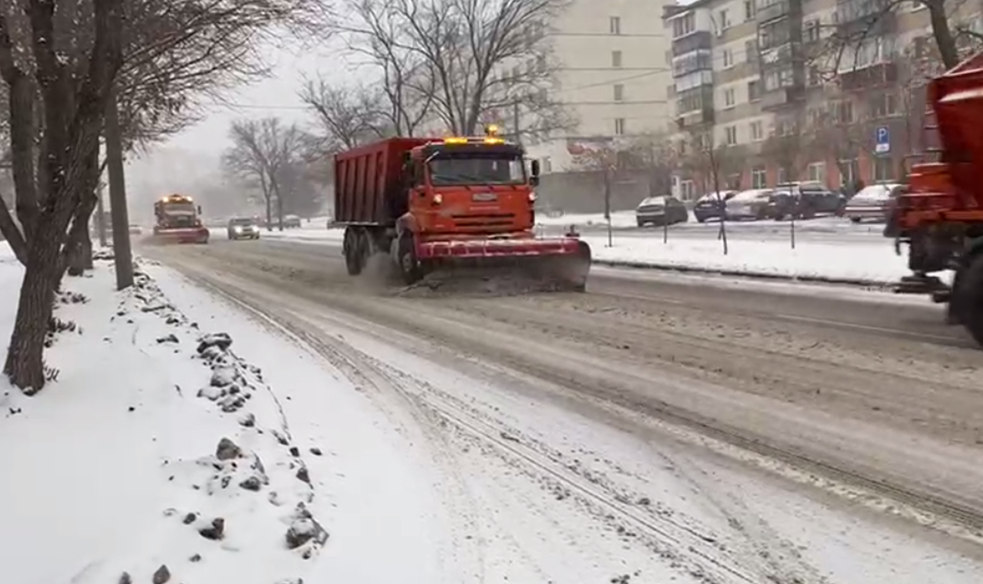
[[[28,252],[17,318],[4,364],[4,373],[10,381],[28,395],[40,391],[45,382],[44,336],[54,308],[61,265],[61,238],[54,227],[49,217],[42,216],[38,223],[37,237]]]

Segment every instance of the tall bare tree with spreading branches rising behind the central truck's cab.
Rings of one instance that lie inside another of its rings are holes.
[[[561,0],[355,1],[356,22],[344,28],[353,43],[405,55],[412,69],[402,81],[433,97],[449,130],[473,134],[516,107],[525,131],[569,125],[549,91],[557,63],[547,33]]]

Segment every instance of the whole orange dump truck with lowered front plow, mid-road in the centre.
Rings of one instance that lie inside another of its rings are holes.
[[[540,280],[550,290],[584,291],[591,249],[576,233],[537,237],[539,161],[522,146],[486,135],[391,138],[334,157],[335,224],[358,275],[388,255],[407,285],[466,266]]]

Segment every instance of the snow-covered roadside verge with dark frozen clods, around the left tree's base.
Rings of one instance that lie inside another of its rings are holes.
[[[22,268],[0,252],[8,338]],[[425,480],[348,380],[205,302],[206,292],[175,304],[140,271],[136,287],[114,293],[111,263],[96,264],[59,295],[46,353],[54,380],[33,397],[0,380],[6,580],[287,584],[325,567],[341,581],[427,573],[433,555],[401,533],[426,540],[432,507],[425,496],[407,502]],[[180,279],[167,283],[181,296]],[[322,554],[335,528],[348,535]],[[393,533],[403,545],[389,562],[352,552],[393,544]]]

